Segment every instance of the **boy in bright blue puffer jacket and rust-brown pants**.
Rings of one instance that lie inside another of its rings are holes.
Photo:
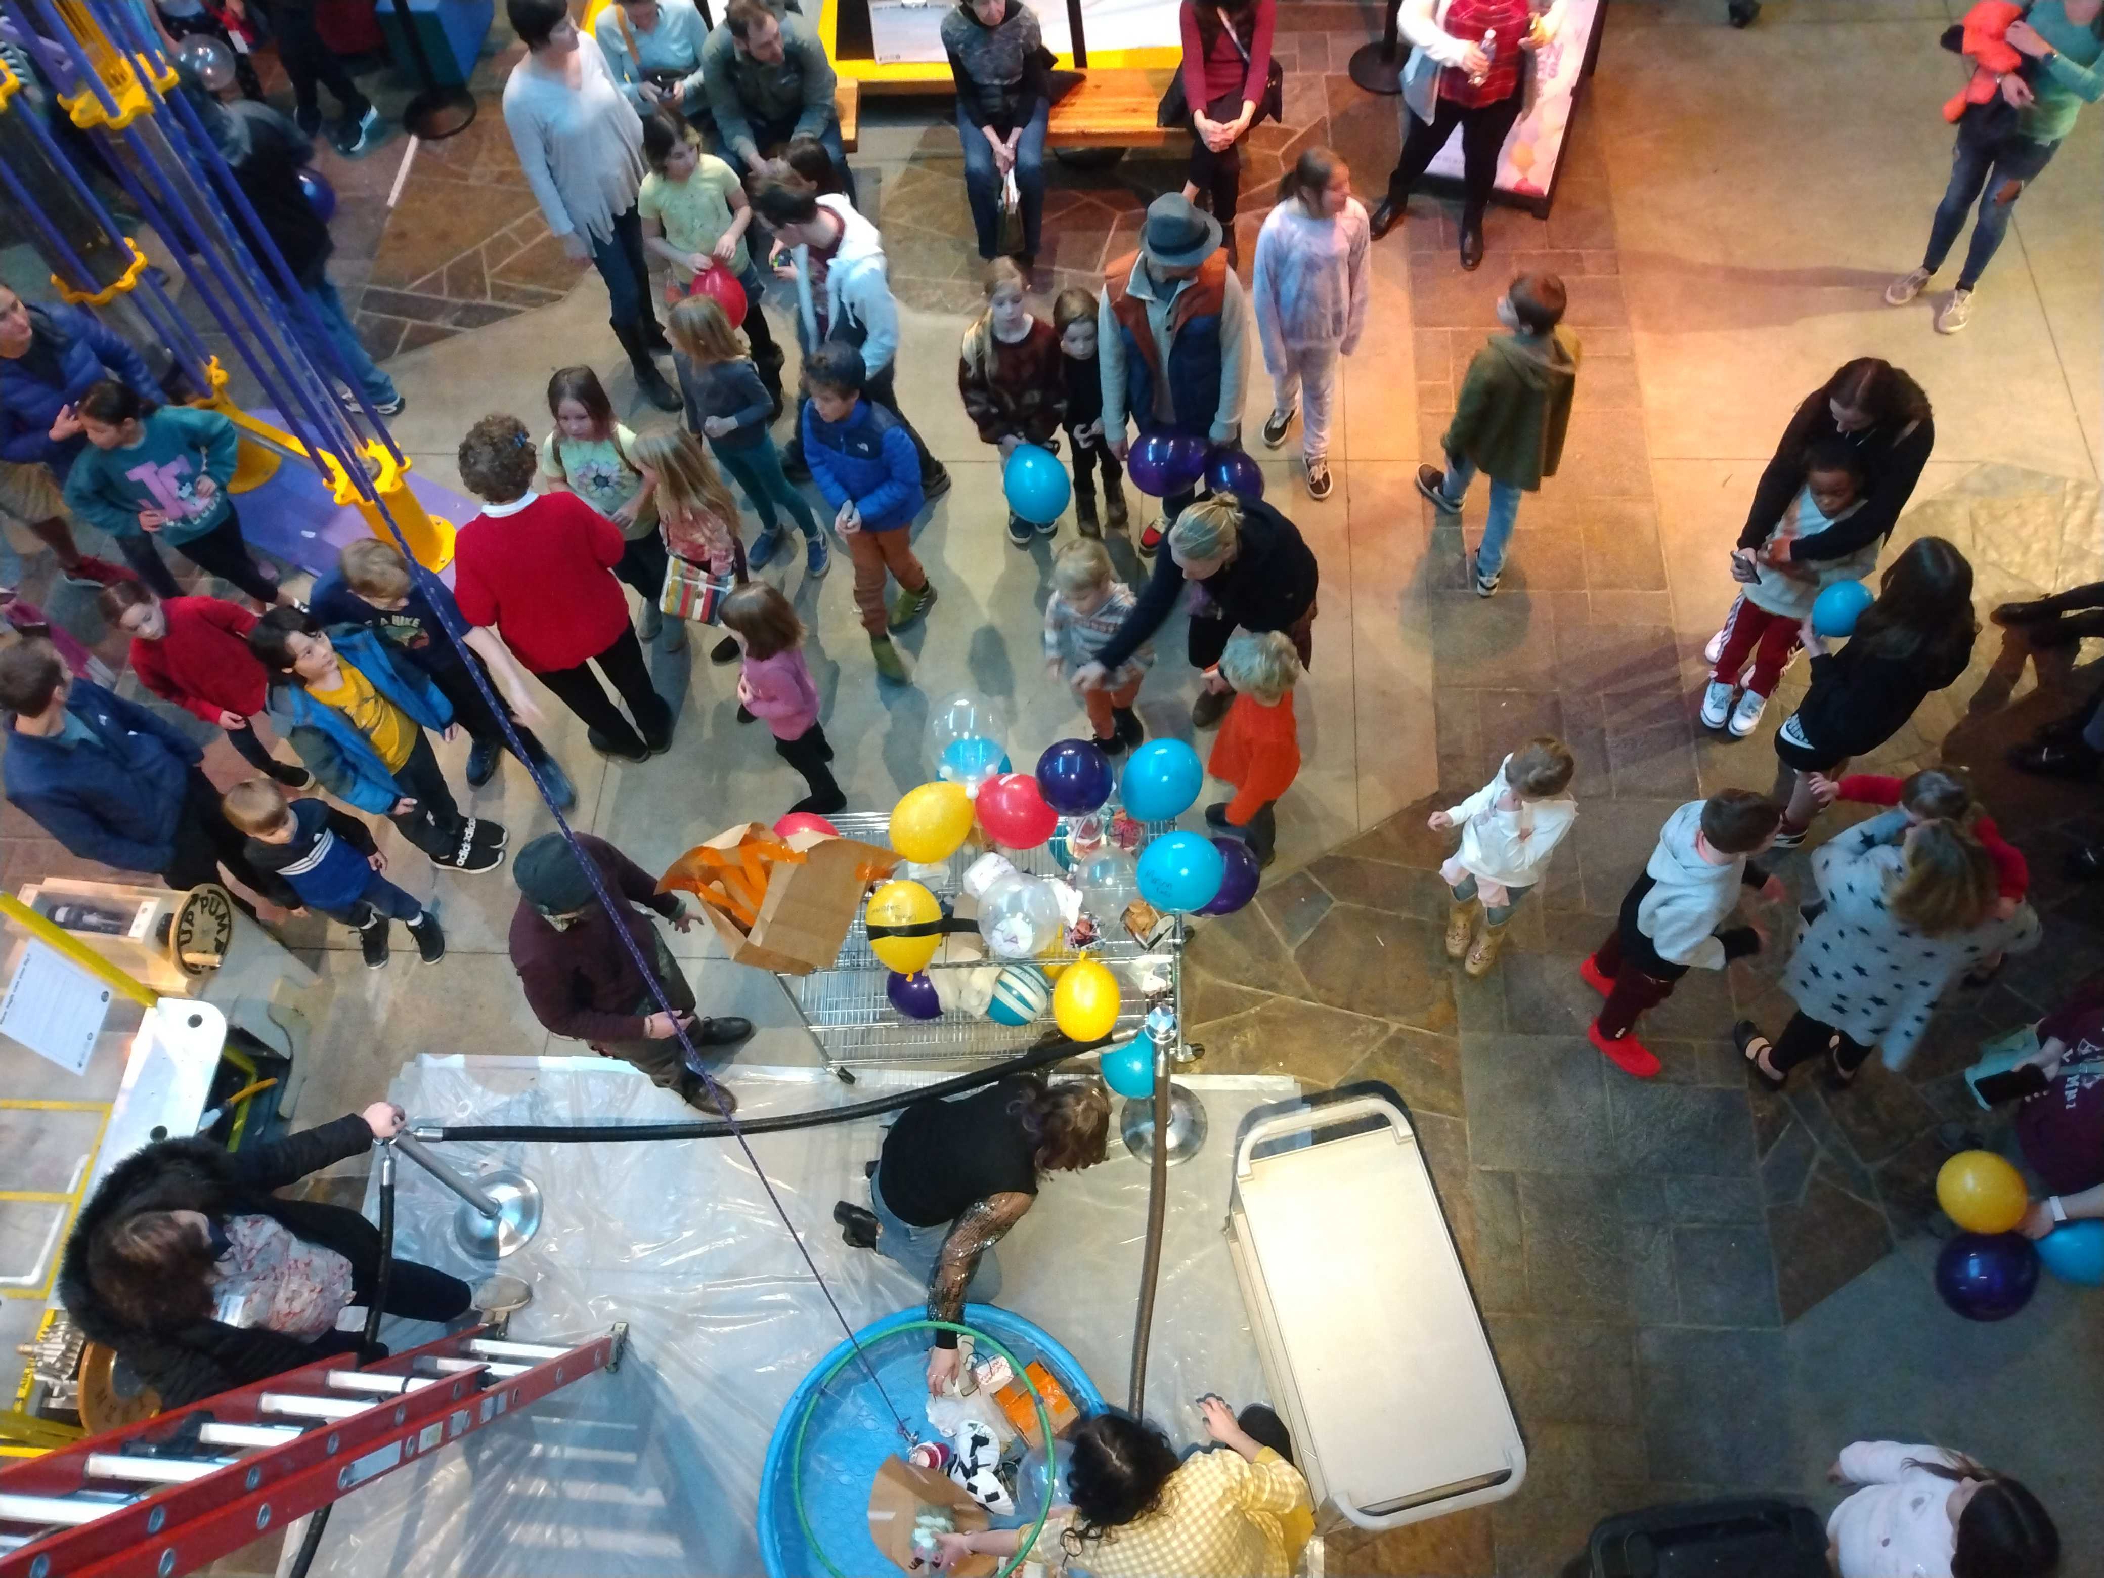
[[[934,604],[934,583],[913,555],[913,520],[926,503],[919,454],[907,425],[863,398],[863,353],[827,341],[804,358],[804,461],[833,507],[833,530],[854,562],[854,606],[863,610],[869,654],[892,684],[907,665],[892,646]],[[898,576],[898,602],[886,614],[884,576]]]

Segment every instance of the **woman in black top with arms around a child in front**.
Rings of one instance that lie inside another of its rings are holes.
[[[1753,505],[1746,509],[1746,526],[1732,545],[1734,555],[1740,549],[1761,547],[1776,530],[1776,522],[1805,486],[1812,450],[1820,448],[1822,440],[1856,450],[1862,463],[1862,507],[1824,532],[1795,539],[1788,547],[1788,560],[1795,562],[1841,560],[1891,537],[1900,511],[1921,482],[1921,467],[1936,448],[1936,417],[1921,385],[1891,362],[1875,356],[1843,362],[1826,383],[1805,396],[1791,425],[1782,429],[1776,459],[1761,471]],[[1732,612],[1738,612],[1736,602]],[[1702,650],[1702,661],[1711,667],[1723,654],[1729,629],[1727,614],[1723,629]]]

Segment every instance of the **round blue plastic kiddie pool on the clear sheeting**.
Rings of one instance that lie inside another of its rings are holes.
[[[1079,1361],[1020,1315],[966,1304],[962,1323],[983,1338],[976,1359],[993,1357],[991,1338],[1014,1355],[1018,1372],[1044,1363],[1084,1414],[1102,1408],[1102,1393]],[[940,1439],[922,1412],[932,1340],[919,1311],[888,1315],[854,1334],[869,1368],[854,1357],[854,1344],[842,1342],[791,1393],[760,1471],[760,1555],[768,1578],[886,1578],[898,1572],[869,1538],[869,1488],[877,1464],[905,1450],[884,1397],[919,1439]],[[884,1397],[869,1370],[877,1372]],[[1046,1481],[1046,1456],[1031,1452],[1016,1473],[1016,1515],[995,1517],[993,1525],[1035,1525],[1039,1511],[1056,1500]]]

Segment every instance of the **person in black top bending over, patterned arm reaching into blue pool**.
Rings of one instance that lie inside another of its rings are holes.
[[[955,1321],[970,1294],[1002,1290],[993,1246],[1023,1220],[1046,1172],[1102,1161],[1111,1096],[1096,1077],[1010,1075],[953,1100],[917,1100],[884,1136],[869,1203],[833,1206],[842,1237],[928,1281],[928,1319]],[[936,1332],[928,1391],[957,1374],[957,1334]]]

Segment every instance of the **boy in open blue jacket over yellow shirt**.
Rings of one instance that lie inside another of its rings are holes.
[[[387,816],[431,865],[503,865],[505,829],[461,814],[425,739],[427,728],[452,732],[452,705],[400,648],[356,625],[324,631],[303,608],[271,608],[248,650],[271,671],[271,726],[328,793]]]

